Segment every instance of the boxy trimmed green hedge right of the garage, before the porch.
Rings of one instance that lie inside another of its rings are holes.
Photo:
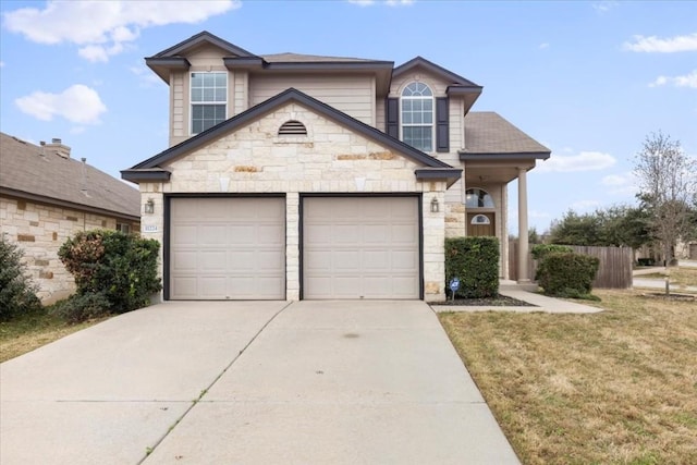
[[[491,236],[445,240],[445,291],[460,278],[462,298],[494,297],[499,294],[499,240]]]

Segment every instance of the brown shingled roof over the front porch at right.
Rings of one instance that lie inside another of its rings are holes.
[[[547,159],[551,150],[518,130],[493,111],[473,111],[465,117],[465,149],[461,160],[481,159],[492,155],[497,159]]]

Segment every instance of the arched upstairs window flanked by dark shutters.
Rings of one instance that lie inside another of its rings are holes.
[[[424,83],[402,91],[402,140],[421,151],[433,150],[433,93]]]

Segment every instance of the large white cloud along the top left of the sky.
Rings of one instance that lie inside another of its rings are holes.
[[[240,0],[49,1],[44,10],[22,8],[3,14],[3,25],[38,44],[74,44],[89,61],[108,61],[143,28],[195,24],[241,7]]]

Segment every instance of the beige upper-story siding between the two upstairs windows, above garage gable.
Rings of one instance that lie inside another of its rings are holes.
[[[249,81],[249,105],[260,103],[289,87],[323,101],[335,109],[374,125],[371,76],[254,76]]]

